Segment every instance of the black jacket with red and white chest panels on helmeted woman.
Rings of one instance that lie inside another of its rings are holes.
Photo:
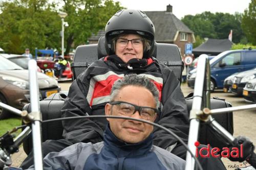
[[[112,85],[128,74],[143,75],[155,83],[160,91],[160,114],[155,123],[172,130],[186,141],[189,118],[180,83],[174,72],[155,58],[131,64],[122,63],[117,56],[95,61],[70,86],[61,116],[105,115],[104,106],[109,102]],[[107,123],[105,118],[65,120],[62,122],[63,137],[73,143],[96,143],[103,140]],[[177,139],[155,127],[154,144],[166,149],[177,144]]]

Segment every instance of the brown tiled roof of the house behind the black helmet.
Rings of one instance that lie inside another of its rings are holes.
[[[157,42],[174,41],[177,31],[193,33],[184,23],[179,20],[172,12],[166,11],[144,11],[154,23]],[[104,36],[104,31],[100,30],[97,35],[92,35],[89,40],[98,40]]]

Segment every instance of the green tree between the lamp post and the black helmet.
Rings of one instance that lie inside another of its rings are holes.
[[[68,13],[65,21],[69,27],[65,28],[65,46],[68,54],[71,46],[86,44],[92,33],[96,34],[105,27],[109,18],[119,9],[119,2],[112,0],[63,0],[62,11]]]

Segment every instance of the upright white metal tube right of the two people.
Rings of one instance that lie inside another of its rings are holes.
[[[194,87],[194,97],[192,108],[190,111],[190,125],[189,125],[189,134],[188,134],[188,148],[191,150],[193,155],[196,155],[196,146],[195,142],[198,140],[198,133],[200,127],[200,120],[196,118],[195,111],[202,110],[203,106],[209,105],[209,93],[204,93],[204,89],[209,88],[209,60],[207,55],[201,55],[198,60],[197,67],[197,76],[195,80],[195,87]],[[205,75],[206,82],[208,85],[205,84]],[[205,88],[206,86],[206,88]],[[206,101],[204,101],[203,96],[206,96]],[[207,104],[205,104],[205,102]],[[209,106],[208,106],[209,107]],[[187,152],[186,154],[186,170],[194,169],[195,168],[195,160],[191,157],[190,153]]]

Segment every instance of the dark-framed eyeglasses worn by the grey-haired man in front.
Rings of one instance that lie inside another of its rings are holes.
[[[145,120],[153,121],[158,110],[156,108],[146,107],[146,106],[137,106],[131,103],[114,101],[110,102],[111,105],[116,105],[118,112],[124,116],[131,116],[136,111],[139,111],[141,118]]]

